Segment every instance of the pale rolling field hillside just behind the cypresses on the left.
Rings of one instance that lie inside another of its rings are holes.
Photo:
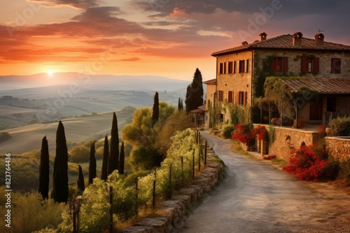
[[[132,121],[134,107],[125,107],[116,111],[118,129]],[[90,114],[62,120],[66,133],[66,140],[70,144],[87,140],[100,140],[106,134],[111,134],[112,112]],[[55,152],[56,130],[58,121],[51,123],[34,123],[29,126],[11,128],[0,132],[7,132],[11,138],[0,142],[2,153],[25,153],[34,149],[41,149],[41,140],[46,135],[50,153]]]

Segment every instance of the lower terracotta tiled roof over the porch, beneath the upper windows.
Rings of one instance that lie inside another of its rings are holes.
[[[300,78],[299,80],[281,80],[293,92],[307,87],[317,93],[350,94],[350,78]]]

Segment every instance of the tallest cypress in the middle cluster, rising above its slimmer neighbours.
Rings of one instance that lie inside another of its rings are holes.
[[[111,151],[109,153],[109,160],[107,165],[107,175],[110,175],[119,167],[119,135],[118,135],[118,121],[116,112],[113,112],[113,121],[111,129]]]

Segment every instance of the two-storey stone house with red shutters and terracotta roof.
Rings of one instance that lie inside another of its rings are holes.
[[[286,85],[292,89],[307,85],[320,93],[318,103],[306,104],[298,113],[307,121],[324,121],[325,113],[350,114],[350,46],[325,42],[323,33],[314,38],[304,38],[301,32],[274,38],[267,38],[266,33],[259,36],[253,43],[244,41],[211,54],[216,57],[217,68],[216,79],[204,82],[207,110],[209,105],[221,105],[218,119],[227,122],[227,106],[236,104],[250,111],[248,121],[262,123],[262,116],[252,111],[253,100],[262,96],[266,77],[279,76],[307,79],[290,79]],[[209,127],[210,117],[206,112],[205,126]]]

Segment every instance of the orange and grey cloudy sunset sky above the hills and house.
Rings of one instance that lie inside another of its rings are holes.
[[[301,31],[350,45],[349,0],[0,0],[0,75],[216,77],[211,53]]]

